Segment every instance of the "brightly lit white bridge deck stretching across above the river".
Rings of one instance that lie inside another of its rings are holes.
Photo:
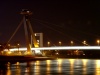
[[[100,50],[100,46],[55,46],[55,47],[38,47],[31,48],[31,50]],[[10,49],[16,51],[18,48]],[[19,48],[20,51],[26,51],[27,48]]]

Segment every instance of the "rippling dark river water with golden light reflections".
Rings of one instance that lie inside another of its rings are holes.
[[[99,59],[32,61],[0,68],[0,75],[100,75]]]

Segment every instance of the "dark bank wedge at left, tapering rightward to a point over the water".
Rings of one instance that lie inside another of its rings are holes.
[[[4,62],[28,62],[36,60],[53,60],[53,57],[35,57],[35,56],[0,56],[0,63]]]

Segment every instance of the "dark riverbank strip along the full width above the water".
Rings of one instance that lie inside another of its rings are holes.
[[[72,59],[100,59],[98,55],[55,55],[49,57],[36,57],[36,56],[2,56],[0,55],[0,63],[15,63],[15,62],[28,62],[28,61],[36,61],[36,60],[54,60],[57,58],[72,58]]]

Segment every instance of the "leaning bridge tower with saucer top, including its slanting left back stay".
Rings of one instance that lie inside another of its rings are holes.
[[[18,27],[16,28],[16,30],[14,31],[14,33],[12,34],[12,36],[10,37],[10,39],[8,40],[7,44],[11,41],[13,36],[18,31],[19,27],[22,25],[22,23],[24,23],[25,39],[26,39],[26,46],[27,46],[27,52],[26,53],[28,55],[31,55],[32,54],[31,43],[34,44],[34,47],[39,47],[39,44],[37,43],[37,40],[35,38],[35,33],[33,32],[33,29],[32,29],[32,26],[31,26],[31,23],[30,23],[30,20],[29,20],[29,16],[32,15],[32,12],[27,10],[27,9],[23,9],[20,14],[23,15],[23,19],[20,22],[20,24],[18,25]],[[30,42],[30,40],[29,40],[29,35],[28,35],[29,31],[28,30],[30,31],[32,42]],[[40,35],[42,35],[42,34],[40,34]],[[43,39],[43,38],[41,37],[40,40],[41,39]],[[43,40],[41,40],[41,41],[43,41]]]

